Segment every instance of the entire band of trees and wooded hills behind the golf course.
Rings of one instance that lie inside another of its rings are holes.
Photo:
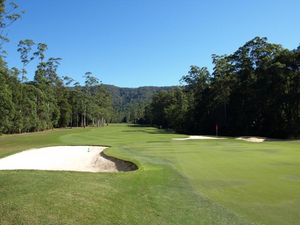
[[[190,66],[177,87],[118,88],[89,71],[80,85],[60,77],[62,59],[46,60],[48,46],[33,40],[19,42],[23,67],[7,67],[7,28],[24,13],[9,4],[6,11],[0,0],[0,134],[127,122],[185,134],[215,135],[218,126],[224,136],[300,137],[300,46],[289,50],[255,37],[231,55],[213,54],[211,73]]]

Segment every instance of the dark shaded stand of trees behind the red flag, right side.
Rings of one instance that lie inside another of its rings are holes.
[[[152,123],[188,134],[300,136],[300,46],[288,50],[256,37],[231,55],[191,66],[182,88],[161,91]]]

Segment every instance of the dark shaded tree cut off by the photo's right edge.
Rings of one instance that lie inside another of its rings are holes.
[[[268,125],[274,135],[300,136],[300,47],[277,51],[267,72],[273,78],[267,82],[274,99],[271,116],[276,121]]]

